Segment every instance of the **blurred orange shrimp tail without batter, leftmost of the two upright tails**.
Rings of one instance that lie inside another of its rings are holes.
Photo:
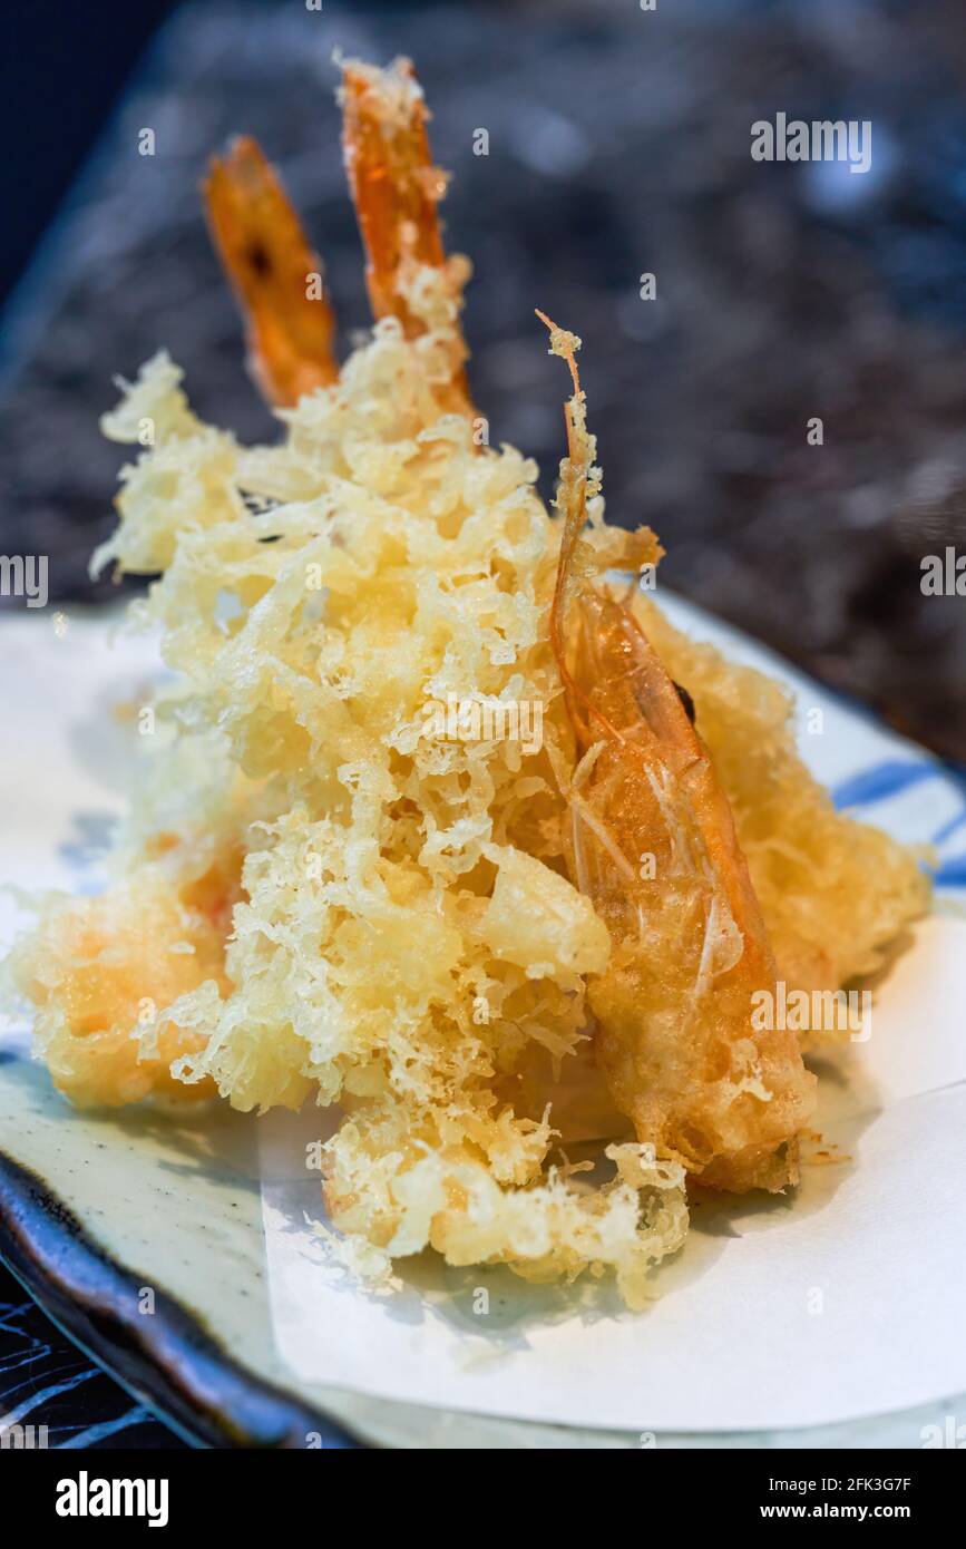
[[[257,141],[243,136],[212,158],[204,204],[246,319],[249,367],[268,401],[286,407],[337,381],[322,262]]]

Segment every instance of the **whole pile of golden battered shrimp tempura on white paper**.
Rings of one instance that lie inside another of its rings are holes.
[[[488,445],[412,67],[345,64],[342,104],[372,338],[339,366],[240,141],[207,208],[285,437],[201,423],[164,355],[104,420],[142,449],[94,562],[159,572],[130,626],[173,677],[107,892],[45,903],[12,973],[76,1103],[341,1104],[361,1272],[610,1269],[636,1307],[689,1179],[796,1182],[814,1077],[752,994],[876,968],[927,883],[834,813],[779,685],[607,582],[661,548],[604,520],[573,335],[554,516]]]

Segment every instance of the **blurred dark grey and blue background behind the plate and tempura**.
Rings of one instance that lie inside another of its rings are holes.
[[[316,3],[6,0],[3,553],[50,555],[51,603],[116,595],[87,579],[121,462],[98,415],[159,345],[201,415],[276,434],[201,220],[229,133],[279,163],[344,345],[365,325],[331,54],[407,53],[491,438],[550,493],[539,305],[585,341],[608,516],[658,530],[661,579],[966,761],[966,601],[920,586],[966,553],[963,0]],[[752,161],[779,110],[870,119],[872,169]]]

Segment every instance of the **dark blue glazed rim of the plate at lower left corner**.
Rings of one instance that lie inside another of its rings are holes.
[[[238,1366],[186,1309],[150,1278],[115,1262],[43,1179],[0,1152],[0,1258],[40,1307],[111,1376],[203,1447],[305,1450],[359,1442]],[[316,1444],[317,1445],[317,1444]]]

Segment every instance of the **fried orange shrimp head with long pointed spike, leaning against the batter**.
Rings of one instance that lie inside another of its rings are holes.
[[[611,936],[588,994],[598,1060],[641,1142],[712,1188],[780,1190],[797,1179],[814,1077],[796,1035],[757,1015],[776,1004],[776,963],[707,748],[630,607],[588,578],[581,341],[542,321],[574,384],[550,638],[579,754],[571,871]]]

